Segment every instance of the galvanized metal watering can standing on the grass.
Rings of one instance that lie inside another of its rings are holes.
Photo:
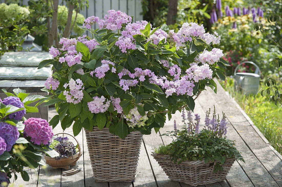
[[[237,73],[237,69],[242,64],[252,64],[256,67],[255,73]],[[259,90],[259,81],[261,79],[261,71],[259,67],[250,61],[242,62],[239,64],[234,72],[235,90],[242,91],[246,95],[256,94]]]

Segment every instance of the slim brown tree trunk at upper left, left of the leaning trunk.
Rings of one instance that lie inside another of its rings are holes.
[[[53,0],[53,16],[52,16],[52,24],[48,34],[48,46],[52,46],[54,44],[54,39],[57,30],[57,17],[58,17],[58,5],[59,0]]]

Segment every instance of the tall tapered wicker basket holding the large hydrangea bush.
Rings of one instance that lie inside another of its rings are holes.
[[[85,135],[96,182],[134,181],[143,136],[140,132],[121,139],[107,128],[93,127],[93,131],[85,129]]]

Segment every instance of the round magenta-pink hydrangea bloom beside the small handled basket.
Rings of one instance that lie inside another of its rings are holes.
[[[47,120],[41,118],[29,118],[24,121],[24,136],[30,137],[30,140],[37,145],[47,145],[54,136],[52,127]]]

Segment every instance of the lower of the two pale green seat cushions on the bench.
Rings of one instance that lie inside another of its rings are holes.
[[[46,80],[51,75],[50,67],[0,67],[0,80]]]

